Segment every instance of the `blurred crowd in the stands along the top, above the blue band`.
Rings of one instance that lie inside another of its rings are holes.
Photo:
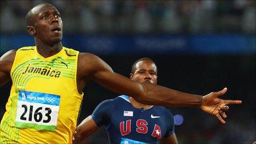
[[[41,2],[61,12],[74,33],[255,33],[255,1],[1,1],[1,33],[26,31]]]

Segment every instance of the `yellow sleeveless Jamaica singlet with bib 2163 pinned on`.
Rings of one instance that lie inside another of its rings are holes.
[[[72,143],[83,98],[76,83],[78,54],[63,47],[44,58],[36,46],[17,50],[0,143]]]

